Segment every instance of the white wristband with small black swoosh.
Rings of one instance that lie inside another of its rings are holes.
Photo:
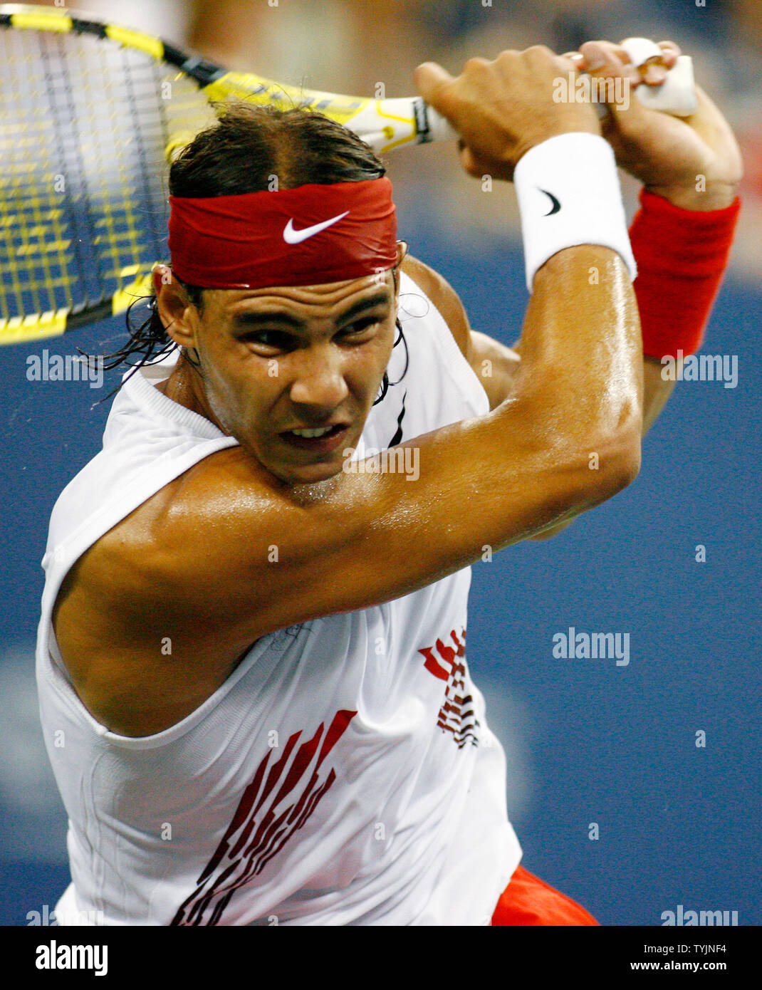
[[[600,245],[616,250],[634,281],[617,162],[599,135],[560,134],[535,145],[514,171],[526,263],[526,288],[549,257],[564,247]]]

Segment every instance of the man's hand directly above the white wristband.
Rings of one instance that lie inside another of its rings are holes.
[[[574,70],[572,59],[538,46],[503,51],[494,61],[470,58],[455,78],[441,65],[424,62],[415,81],[460,135],[466,171],[510,180],[534,145],[570,132],[601,134],[592,105],[553,100],[555,80]]]

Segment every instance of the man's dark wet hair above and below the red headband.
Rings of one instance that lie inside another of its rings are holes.
[[[226,103],[218,112],[217,123],[198,134],[172,163],[170,195],[205,198],[259,192],[271,188],[274,175],[278,188],[295,189],[308,183],[361,182],[386,174],[372,148],[351,131],[314,111]],[[191,303],[201,311],[204,289],[180,284]],[[141,320],[138,314],[146,306],[148,316]],[[127,328],[130,339],[125,346],[104,355],[107,370],[126,363],[133,368],[132,375],[144,364],[179,347],[161,323],[152,295],[137,299],[129,308]],[[405,343],[398,319],[394,346],[400,341]],[[189,363],[196,364],[187,351],[184,356]],[[406,360],[405,371],[407,368]],[[376,402],[384,398],[389,384],[384,372]]]

